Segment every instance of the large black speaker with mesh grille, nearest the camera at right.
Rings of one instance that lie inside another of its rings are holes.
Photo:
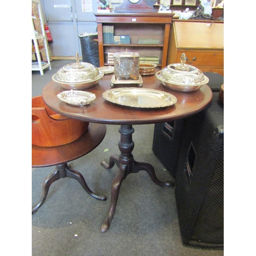
[[[184,244],[224,247],[224,106],[213,93],[207,108],[187,118],[175,178]]]

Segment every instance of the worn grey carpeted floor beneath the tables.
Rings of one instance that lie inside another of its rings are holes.
[[[41,95],[51,77],[72,60],[51,61],[44,75],[32,71],[32,97]],[[101,160],[119,154],[118,125],[106,125],[106,136],[88,155],[70,162],[86,179],[102,202],[89,196],[74,179],[54,182],[45,203],[32,215],[33,256],[221,256],[223,250],[200,249],[182,244],[174,189],[160,187],[146,172],[131,174],[123,181],[115,215],[106,233],[100,226],[110,207],[112,181],[117,166],[104,169]],[[135,160],[151,163],[160,180],[174,178],[152,151],[154,124],[134,125]],[[41,195],[42,182],[54,166],[32,168],[32,206]]]

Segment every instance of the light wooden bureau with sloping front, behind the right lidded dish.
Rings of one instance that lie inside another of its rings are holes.
[[[167,65],[180,63],[182,53],[187,64],[202,72],[224,75],[224,24],[218,21],[173,22],[168,47]]]

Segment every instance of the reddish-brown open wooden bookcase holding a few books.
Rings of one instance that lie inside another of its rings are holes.
[[[94,13],[98,28],[99,65],[108,65],[106,52],[138,52],[140,56],[159,57],[159,67],[166,66],[170,24],[169,13]],[[103,44],[102,26],[113,25],[114,35],[130,35],[127,45]],[[159,45],[138,45],[138,39],[159,39]]]

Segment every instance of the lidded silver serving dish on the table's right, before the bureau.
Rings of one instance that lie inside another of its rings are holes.
[[[170,64],[156,73],[157,79],[162,84],[178,92],[194,92],[199,90],[209,79],[200,70],[191,65],[186,65],[186,56],[181,55],[181,64]]]

